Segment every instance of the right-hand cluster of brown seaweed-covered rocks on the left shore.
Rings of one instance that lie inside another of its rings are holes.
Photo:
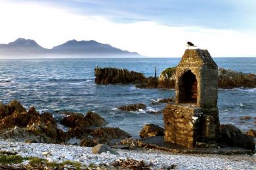
[[[106,120],[95,112],[87,112],[85,116],[79,113],[68,113],[61,124],[70,127],[70,137],[81,139],[80,146],[95,146],[100,143],[108,143],[112,139],[127,139],[131,137],[118,127],[105,126]]]

